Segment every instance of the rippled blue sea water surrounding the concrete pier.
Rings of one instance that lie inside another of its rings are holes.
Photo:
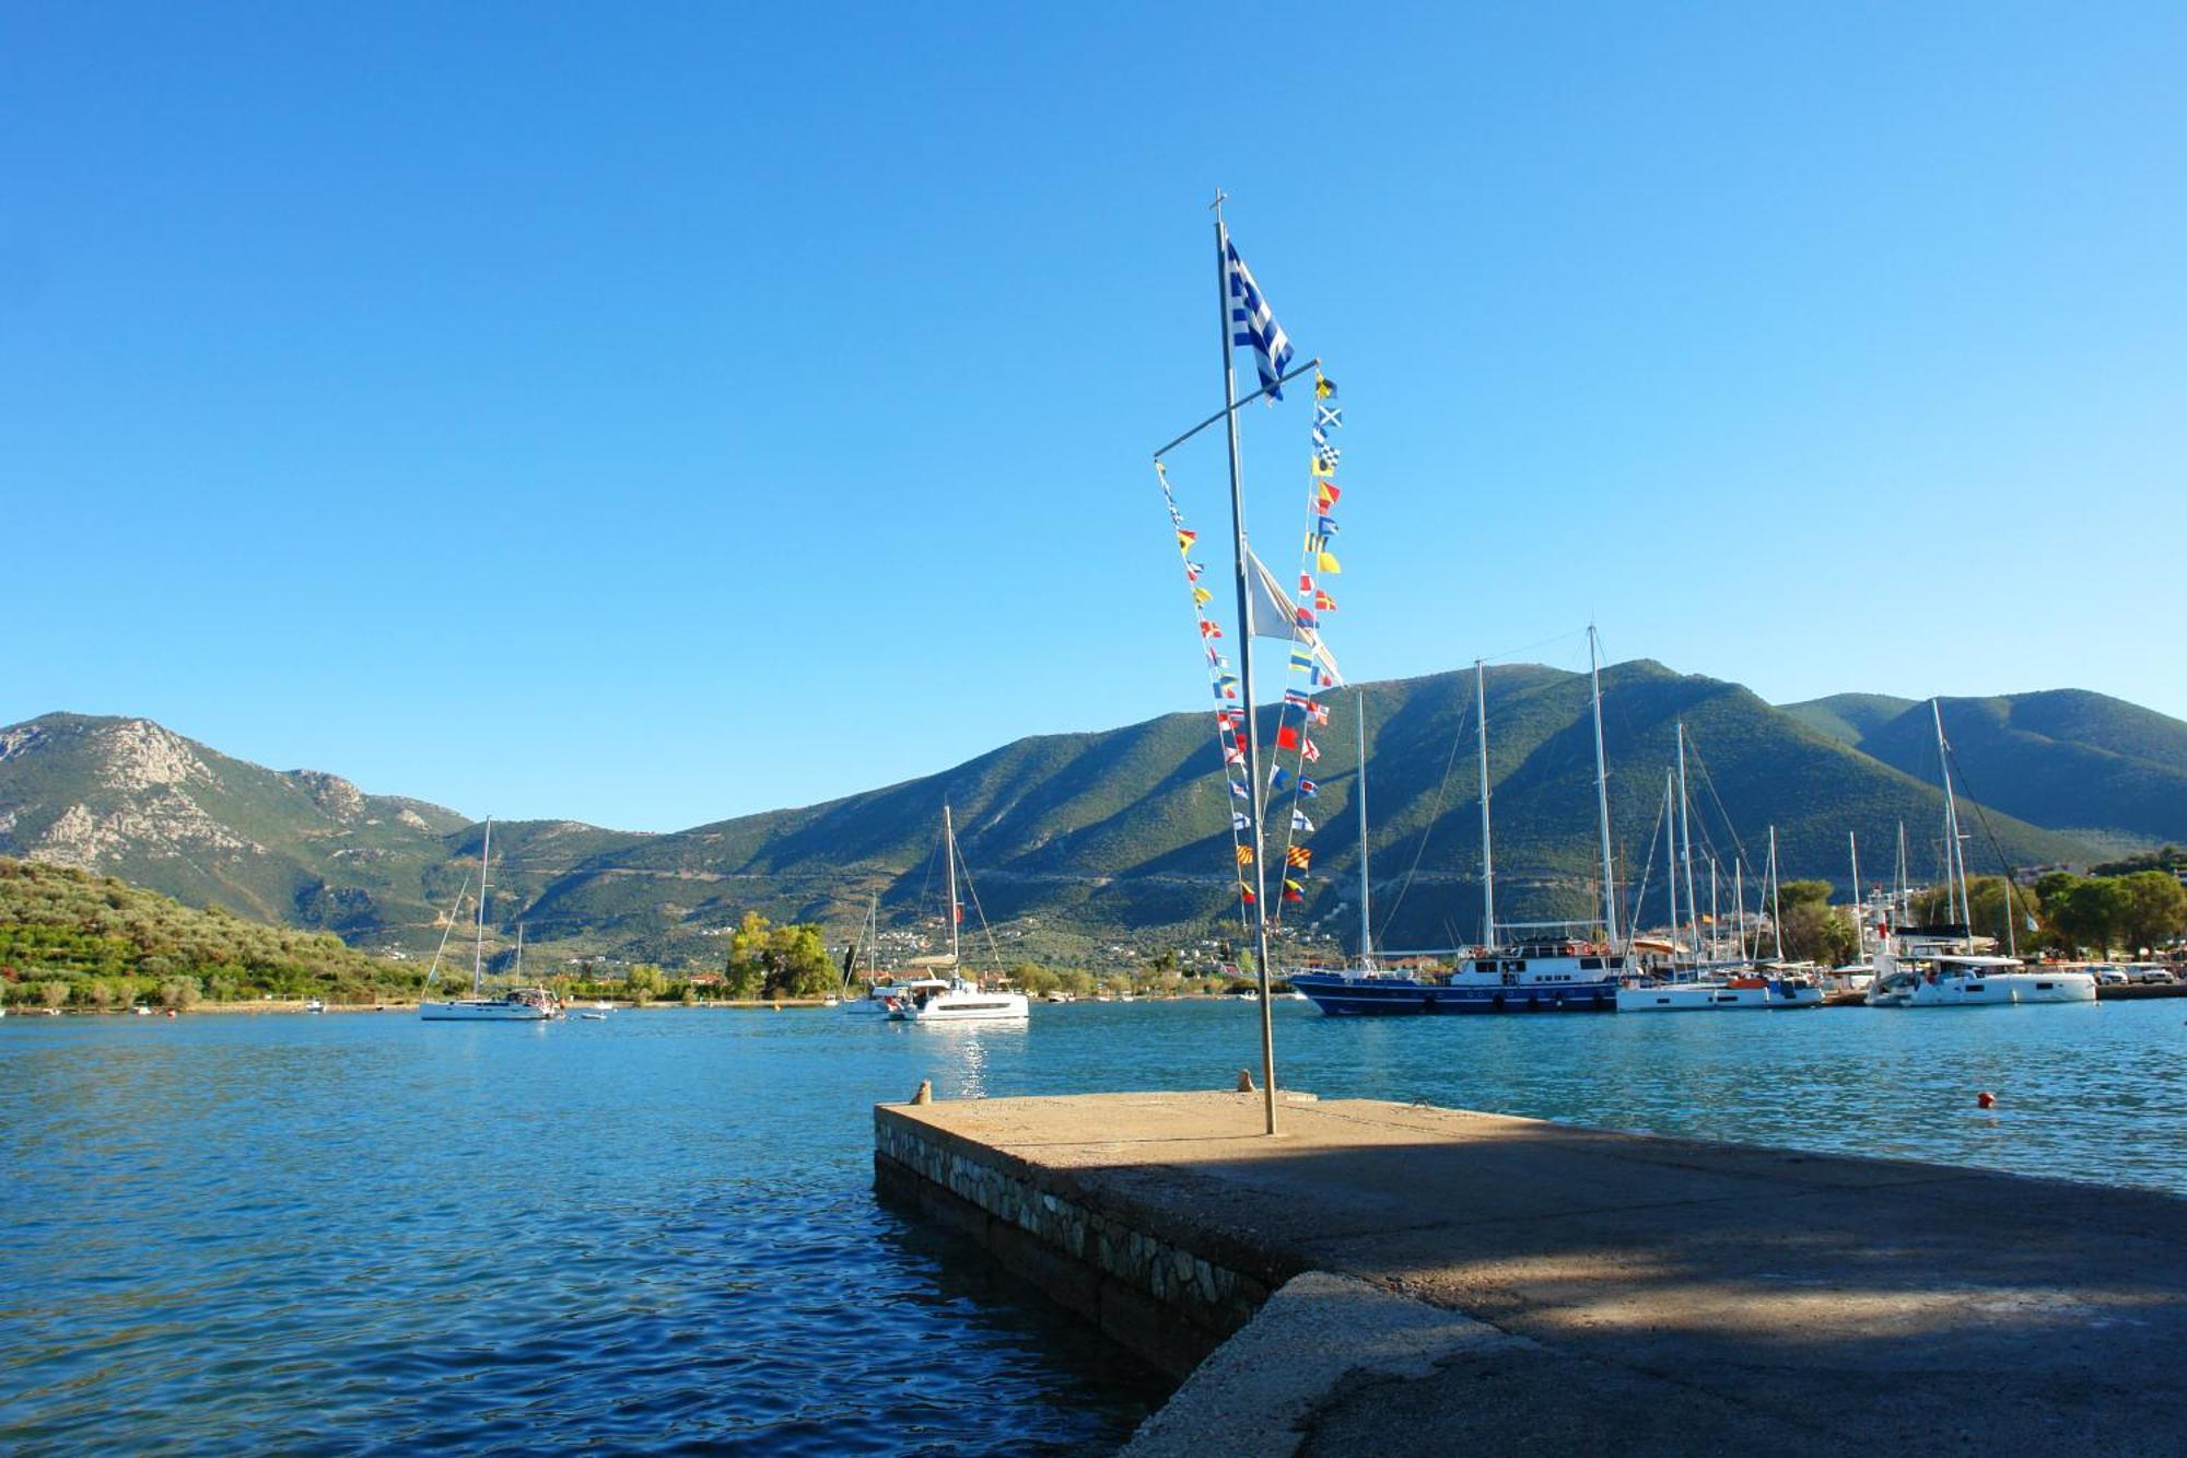
[[[1332,1097],[2187,1193],[2187,1000],[1277,1018]],[[1102,1449],[1161,1381],[875,1204],[870,1106],[1255,1062],[1223,1003],[7,1018],[0,1447]]]

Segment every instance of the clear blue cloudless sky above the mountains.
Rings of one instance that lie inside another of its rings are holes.
[[[7,4],[0,722],[667,830],[1205,707],[1218,182],[1354,679],[1594,615],[2187,716],[2183,74],[2176,4]]]

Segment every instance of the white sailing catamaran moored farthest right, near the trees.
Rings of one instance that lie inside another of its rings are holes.
[[[1883,926],[1876,935],[1876,981],[1870,1007],[1997,1007],[2016,1003],[2093,1003],[2095,974],[2030,970],[2019,959],[2012,930],[2014,909],[2005,902],[2010,957],[1975,952],[1973,902],[1966,895],[1966,847],[1960,841],[1960,799],[1951,784],[1951,747],[1944,742],[1944,709],[1929,701],[1935,720],[1935,757],[1944,773],[1944,898],[1942,926]],[[2010,867],[2005,884],[2012,884]]]

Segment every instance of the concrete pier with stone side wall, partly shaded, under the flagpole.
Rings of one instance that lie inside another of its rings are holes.
[[[2187,1200],[1310,1095],[1266,1138],[1260,1110],[881,1106],[877,1182],[1150,1359],[1212,1351],[1133,1454],[2187,1451]]]

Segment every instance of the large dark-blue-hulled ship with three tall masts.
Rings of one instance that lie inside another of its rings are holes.
[[[1450,972],[1397,972],[1373,965],[1367,935],[1367,751],[1360,729],[1360,963],[1343,972],[1297,972],[1290,985],[1330,1016],[1614,1011],[1625,952],[1618,950],[1616,882],[1610,860],[1610,775],[1603,757],[1603,683],[1594,628],[1588,626],[1588,692],[1594,705],[1594,803],[1603,849],[1603,941],[1572,924],[1527,926],[1511,944],[1496,924],[1496,871],[1489,849],[1487,668],[1474,663],[1474,718],[1481,757],[1481,946]],[[1365,718],[1365,716],[1363,716]],[[1555,935],[1542,935],[1555,933]]]

